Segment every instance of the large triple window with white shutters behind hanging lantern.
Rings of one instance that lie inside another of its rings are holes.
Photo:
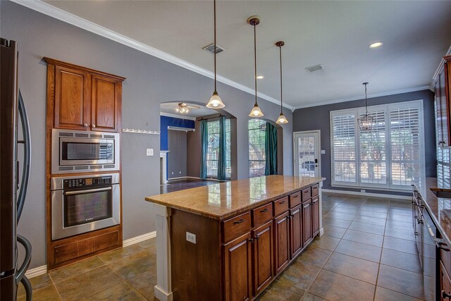
[[[356,116],[364,108],[330,111],[332,185],[407,190],[424,178],[422,102],[370,106],[371,130]]]

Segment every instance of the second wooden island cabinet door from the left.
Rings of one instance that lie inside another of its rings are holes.
[[[273,280],[273,221],[252,231],[254,296]],[[252,240],[251,240],[252,241]]]

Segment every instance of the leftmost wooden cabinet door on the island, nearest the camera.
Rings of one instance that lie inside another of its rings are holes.
[[[251,233],[224,245],[225,300],[252,299]]]

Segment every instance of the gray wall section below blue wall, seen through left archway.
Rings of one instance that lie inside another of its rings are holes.
[[[168,130],[168,178],[187,176],[187,133],[181,130]]]

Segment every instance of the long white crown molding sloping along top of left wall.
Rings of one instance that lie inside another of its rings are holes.
[[[96,23],[92,23],[89,20],[80,18],[79,16],[75,16],[73,13],[68,13],[67,11],[63,11],[61,8],[51,6],[50,4],[47,4],[41,0],[11,0],[11,1],[16,4],[20,4],[21,6],[30,8],[33,11],[37,11],[39,13],[43,13],[44,15],[61,20],[70,25],[80,27],[83,30],[87,30],[96,35],[100,35],[101,37],[106,37],[107,39],[111,39],[114,42],[118,42],[118,43],[128,46],[130,48],[137,49],[139,51],[144,52],[145,54],[150,54],[151,56],[155,56],[156,58],[162,59],[163,61],[168,61],[169,63],[173,63],[174,65],[180,66],[187,70],[194,71],[195,73],[204,75],[207,78],[214,78],[214,73],[209,70],[206,70],[206,69],[196,66],[192,63],[184,61],[183,59],[179,59],[178,57],[173,56],[171,54],[167,54],[166,52],[163,52],[154,47],[150,47],[147,44],[138,42],[135,39],[126,37],[125,35],[121,35],[118,32],[109,30],[106,27],[103,27]],[[229,85],[230,87],[235,87],[238,90],[242,90],[242,91],[247,92],[252,95],[255,94],[254,90],[252,90],[251,88],[246,87],[245,85],[241,85],[238,82],[234,82],[233,80],[230,80],[228,78],[224,78],[221,75],[217,76],[217,80],[218,80],[218,82],[222,82],[223,84]],[[273,102],[274,104],[280,104],[279,100],[277,100],[273,97],[269,97],[266,94],[257,92],[257,96],[260,97],[261,99],[267,100],[268,102]],[[287,109],[293,110],[293,107],[290,106],[289,104],[283,104],[283,106]]]

